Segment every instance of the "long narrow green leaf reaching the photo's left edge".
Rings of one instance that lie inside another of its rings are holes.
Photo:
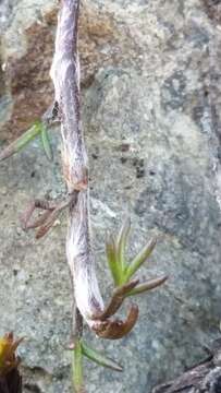
[[[11,155],[17,153],[33,141],[40,133],[39,122],[35,122],[27,131],[25,131],[20,138],[10,143],[1,153],[0,160],[9,158]]]

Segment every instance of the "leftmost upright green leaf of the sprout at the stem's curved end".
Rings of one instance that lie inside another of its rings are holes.
[[[111,271],[113,281],[115,285],[121,284],[121,265],[118,260],[116,247],[113,236],[109,235],[106,241],[106,253],[108,258],[109,269]]]

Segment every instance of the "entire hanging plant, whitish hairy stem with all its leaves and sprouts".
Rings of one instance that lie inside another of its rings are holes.
[[[98,337],[119,340],[134,327],[138,318],[138,307],[130,305],[124,321],[115,313],[126,298],[143,294],[164,283],[167,276],[139,283],[132,279],[140,266],[149,258],[157,239],[150,242],[127,262],[126,245],[131,224],[126,221],[118,235],[110,235],[106,251],[108,266],[111,272],[114,288],[107,306],[99,289],[94,267],[94,254],[90,247],[89,231],[89,192],[88,162],[79,112],[79,67],[77,56],[79,0],[62,0],[59,12],[56,50],[51,67],[51,78],[54,84],[56,102],[52,119],[57,117],[61,123],[62,164],[66,182],[66,195],[59,203],[54,201],[34,201],[25,212],[23,228],[38,228],[39,239],[52,227],[60,212],[69,207],[69,229],[66,237],[67,263],[73,284],[73,383],[76,393],[85,391],[83,376],[83,358],[87,357],[96,364],[122,371],[122,367],[97,349],[90,348],[83,337],[83,320]],[[48,121],[50,123],[50,121]],[[42,146],[49,159],[52,151],[47,134],[45,117],[36,122],[25,134],[8,146],[0,155],[4,159],[17,153],[29,141],[41,135]],[[35,209],[44,210],[44,214],[29,223]]]

